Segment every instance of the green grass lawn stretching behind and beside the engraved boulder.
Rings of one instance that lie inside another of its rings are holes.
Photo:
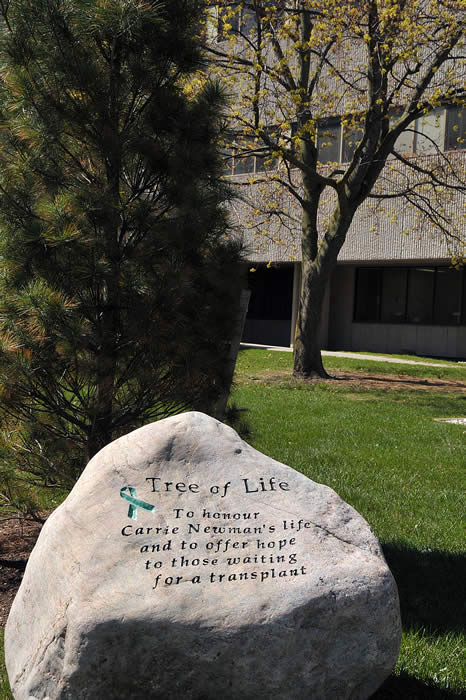
[[[466,387],[466,367],[455,363],[324,364],[368,377],[401,374],[413,387],[442,379]],[[466,416],[466,391],[298,382],[291,366],[291,353],[242,350],[233,400],[245,409],[254,447],[334,488],[382,542],[404,631],[395,672],[373,700],[465,697],[466,427],[434,418]],[[7,698],[3,670],[0,699]]]

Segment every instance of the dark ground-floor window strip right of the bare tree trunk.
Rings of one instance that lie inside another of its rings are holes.
[[[354,320],[466,325],[466,272],[449,267],[360,267]]]

